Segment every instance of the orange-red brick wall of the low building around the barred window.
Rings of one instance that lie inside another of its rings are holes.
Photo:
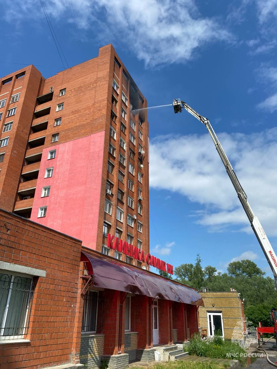
[[[1,369],[44,368],[69,363],[72,356],[78,363],[81,329],[75,328],[82,310],[78,303],[81,242],[3,210],[0,239],[1,261],[46,271],[45,277],[36,277],[24,337],[30,342],[1,344]]]

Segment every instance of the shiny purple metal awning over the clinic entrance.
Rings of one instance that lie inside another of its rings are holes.
[[[92,255],[83,251],[82,254],[92,266],[94,287],[204,306],[195,289],[103,255]]]

